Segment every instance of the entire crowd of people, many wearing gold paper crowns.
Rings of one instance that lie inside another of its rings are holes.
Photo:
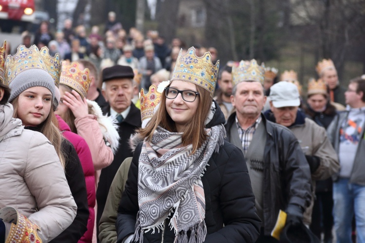
[[[0,242],[365,243],[365,75],[86,33],[0,48]]]

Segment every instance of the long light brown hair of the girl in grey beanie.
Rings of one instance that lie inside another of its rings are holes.
[[[17,96],[11,103],[14,107],[14,113],[13,117],[18,118],[18,99],[19,96]],[[59,157],[59,161],[61,162],[61,165],[63,169],[65,169],[66,165],[66,157],[62,152],[62,135],[58,129],[58,122],[57,118],[55,117],[54,111],[51,107],[50,113],[48,114],[48,117],[46,120],[44,120],[42,123],[38,125],[39,132],[41,132],[55,147],[55,151]]]

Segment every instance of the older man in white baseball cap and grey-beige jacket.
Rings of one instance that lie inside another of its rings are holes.
[[[327,132],[306,118],[299,108],[300,98],[296,85],[286,81],[274,84],[270,88],[269,98],[270,110],[264,113],[265,117],[269,121],[286,126],[298,139],[310,167],[314,195],[315,181],[328,179],[340,169],[336,153],[327,138]],[[307,226],[311,223],[313,203],[312,200],[310,207],[304,213],[303,223]]]

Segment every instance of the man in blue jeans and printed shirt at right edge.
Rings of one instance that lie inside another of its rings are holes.
[[[341,166],[333,178],[334,226],[337,242],[352,242],[355,216],[357,242],[365,242],[365,75],[350,81],[345,98],[346,111],[327,130]]]

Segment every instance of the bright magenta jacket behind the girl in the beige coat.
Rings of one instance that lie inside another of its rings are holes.
[[[94,224],[95,224],[95,177],[94,177],[94,167],[92,164],[91,152],[89,146],[85,139],[81,136],[71,132],[70,127],[67,125],[65,121],[63,121],[58,115],[56,115],[58,121],[58,127],[61,131],[62,135],[69,140],[75,150],[77,155],[80,159],[82,169],[85,175],[85,183],[86,183],[86,190],[88,191],[88,206],[89,206],[89,219],[88,219],[88,230],[85,234],[81,237],[78,241],[79,243],[89,243],[92,239]]]

